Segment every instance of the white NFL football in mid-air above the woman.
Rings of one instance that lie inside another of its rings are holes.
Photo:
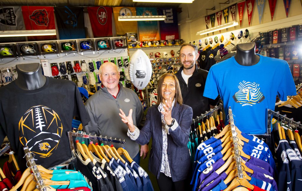
[[[145,88],[152,76],[152,65],[146,53],[137,49],[131,56],[129,76],[132,84],[139,90]]]

